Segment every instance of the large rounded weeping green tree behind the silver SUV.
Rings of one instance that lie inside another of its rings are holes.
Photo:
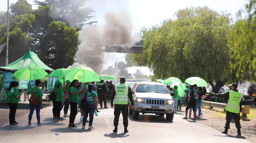
[[[143,53],[132,57],[154,71],[155,79],[189,77],[208,81],[214,92],[228,81],[237,81],[229,66],[229,13],[208,7],[186,8],[161,25],[143,28]],[[215,85],[213,83],[216,83]]]

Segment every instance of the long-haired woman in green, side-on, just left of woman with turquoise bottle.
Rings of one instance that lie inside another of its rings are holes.
[[[82,90],[78,87],[78,80],[73,80],[70,84],[70,88],[68,90],[70,94],[70,115],[69,115],[69,127],[77,127],[74,124],[75,116],[77,115],[77,104],[79,102],[79,93],[82,93]]]

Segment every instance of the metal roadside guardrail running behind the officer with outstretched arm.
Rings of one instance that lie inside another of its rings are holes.
[[[209,106],[209,107],[215,107],[215,108],[221,108],[226,109],[225,103],[217,103],[217,102],[210,102],[210,101],[202,101],[202,105]],[[243,113],[243,116],[246,116],[246,114],[250,113],[250,107],[249,105],[243,105],[241,112]]]

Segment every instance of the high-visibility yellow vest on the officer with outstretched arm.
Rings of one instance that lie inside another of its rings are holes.
[[[229,92],[229,99],[226,106],[226,111],[232,112],[232,113],[240,113],[240,101],[243,97],[243,94],[236,91],[228,91]]]

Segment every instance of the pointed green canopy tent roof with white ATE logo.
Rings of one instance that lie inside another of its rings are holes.
[[[26,54],[24,54],[21,58],[16,60],[13,63],[10,63],[6,66],[1,66],[0,71],[6,71],[6,72],[15,72],[22,66],[29,66],[29,65],[37,65],[40,66],[42,69],[44,69],[47,73],[50,73],[51,71],[54,71],[50,67],[48,67],[46,64],[44,64],[36,53],[28,51]]]

